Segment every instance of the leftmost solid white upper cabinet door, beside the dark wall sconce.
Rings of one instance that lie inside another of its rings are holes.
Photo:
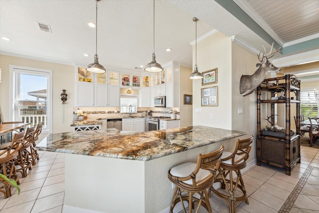
[[[77,83],[77,106],[93,106],[94,102],[93,84]]]

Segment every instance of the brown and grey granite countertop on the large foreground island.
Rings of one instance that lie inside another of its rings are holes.
[[[149,161],[219,141],[246,132],[206,126],[181,127],[142,133],[117,129],[49,134],[37,150],[107,158]]]

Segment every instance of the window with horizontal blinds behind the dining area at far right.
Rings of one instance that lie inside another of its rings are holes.
[[[300,114],[304,115],[305,119],[308,117],[319,117],[318,105],[314,90],[304,90],[300,92],[301,110]]]

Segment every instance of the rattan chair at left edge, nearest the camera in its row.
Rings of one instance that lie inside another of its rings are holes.
[[[6,149],[0,150],[0,170],[3,175],[9,179],[13,179],[17,184],[20,184],[19,178],[16,174],[16,169],[14,165],[14,159],[18,156],[18,152],[24,143],[24,132],[17,133],[13,135],[10,146]],[[3,183],[3,186],[0,187],[0,192],[4,194],[4,198],[10,197],[11,194],[11,185],[4,181],[0,180]]]

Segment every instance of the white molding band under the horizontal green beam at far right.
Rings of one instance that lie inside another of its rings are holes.
[[[319,49],[274,59],[272,63],[278,67],[287,67],[315,61],[319,61]]]

